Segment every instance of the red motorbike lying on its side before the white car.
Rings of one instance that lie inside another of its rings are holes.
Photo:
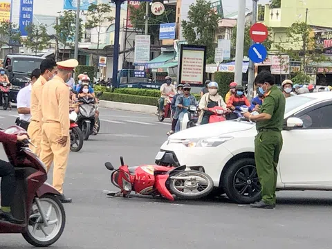
[[[111,183],[120,188],[120,192],[107,194],[109,196],[128,197],[131,191],[135,191],[142,195],[161,195],[169,201],[174,201],[173,194],[181,199],[194,200],[207,196],[213,189],[213,181],[208,174],[194,170],[185,171],[185,165],[128,167],[124,165],[122,157],[120,161],[119,169],[114,169],[109,162],[105,163],[105,167],[113,171]]]

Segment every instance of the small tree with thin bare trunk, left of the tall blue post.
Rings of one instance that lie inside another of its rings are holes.
[[[99,44],[100,44],[100,31],[103,24],[107,21],[113,21],[114,17],[111,17],[112,8],[107,3],[92,3],[88,11],[86,12],[86,28],[95,28],[97,30],[98,42],[97,42],[97,59],[99,57]]]

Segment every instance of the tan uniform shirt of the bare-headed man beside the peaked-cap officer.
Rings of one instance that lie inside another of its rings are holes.
[[[30,107],[30,113],[31,113],[31,120],[36,122],[42,121],[42,106],[39,105],[39,102],[42,98],[42,90],[44,87],[44,84],[46,83],[45,78],[40,75],[38,80],[33,84],[33,89],[31,91],[31,107]]]

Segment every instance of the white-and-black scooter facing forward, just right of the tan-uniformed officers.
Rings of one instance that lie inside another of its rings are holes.
[[[102,95],[101,93],[97,93],[97,97],[99,98]],[[76,123],[80,127],[84,140],[88,140],[89,136],[93,133],[93,127],[95,126],[95,99],[94,98],[80,98],[78,100],[80,102],[80,113],[78,113]],[[99,120],[98,120],[99,121]],[[100,129],[100,122],[98,122]]]

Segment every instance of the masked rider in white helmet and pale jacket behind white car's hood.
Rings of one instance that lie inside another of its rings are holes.
[[[218,83],[210,82],[209,92],[205,93],[199,102],[199,109],[201,109],[199,114],[200,124],[209,123],[210,116],[213,115],[211,111],[208,111],[209,108],[223,107],[223,109],[227,109],[223,98],[218,94],[218,87]]]

